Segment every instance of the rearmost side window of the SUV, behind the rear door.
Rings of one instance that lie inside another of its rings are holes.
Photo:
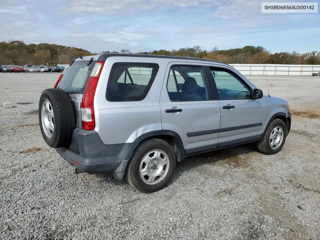
[[[113,64],[107,84],[109,102],[141,101],[147,96],[159,70],[156,63]]]

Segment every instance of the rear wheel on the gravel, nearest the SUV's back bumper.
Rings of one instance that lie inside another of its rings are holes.
[[[150,139],[133,153],[125,178],[130,186],[141,192],[156,192],[169,183],[175,165],[175,153],[171,146],[164,140]]]

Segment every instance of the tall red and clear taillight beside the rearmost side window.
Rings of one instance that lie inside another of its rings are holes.
[[[84,88],[81,102],[81,125],[84,130],[95,128],[93,99],[104,62],[96,62]]]

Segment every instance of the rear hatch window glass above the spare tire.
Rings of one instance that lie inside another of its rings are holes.
[[[76,61],[71,64],[64,72],[58,88],[64,89],[66,92],[83,94],[85,84],[95,63],[96,61],[92,61],[87,66],[88,61]]]

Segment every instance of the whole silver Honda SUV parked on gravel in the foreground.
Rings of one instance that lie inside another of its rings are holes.
[[[287,101],[219,61],[102,54],[73,59],[44,90],[39,122],[76,173],[113,172],[150,193],[187,156],[249,142],[278,153],[291,113]]]

